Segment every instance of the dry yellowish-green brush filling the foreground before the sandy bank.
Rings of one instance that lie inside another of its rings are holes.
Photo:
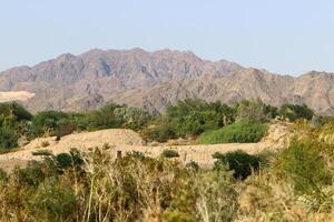
[[[276,153],[215,153],[213,169],[180,165],[174,150],[46,154],[0,171],[0,221],[333,221],[334,149],[308,139]]]

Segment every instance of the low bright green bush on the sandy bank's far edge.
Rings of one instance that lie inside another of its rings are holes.
[[[205,132],[199,137],[202,144],[259,142],[268,127],[256,122],[238,122],[219,130]]]

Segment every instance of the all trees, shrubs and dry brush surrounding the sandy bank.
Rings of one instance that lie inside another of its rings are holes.
[[[257,142],[274,118],[295,121],[279,151],[215,153],[213,169],[183,165],[177,150],[153,159],[140,152],[111,157],[111,147],[52,155],[39,150],[26,168],[0,170],[0,221],[258,222],[334,220],[334,120],[305,105],[261,101],[233,107],[187,100],[166,114],[109,104],[85,113],[35,115],[0,105],[0,145],[8,151],[45,134],[130,128],[147,140],[198,137],[202,143]]]

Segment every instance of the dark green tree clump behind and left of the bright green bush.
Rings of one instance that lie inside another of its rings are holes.
[[[143,134],[146,140],[166,142],[169,139],[197,137],[234,122],[234,110],[220,102],[184,100],[167,108],[166,114],[155,121],[155,128]]]

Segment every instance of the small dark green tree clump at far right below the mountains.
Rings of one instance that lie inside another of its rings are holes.
[[[278,111],[278,115],[288,119],[289,121],[296,121],[298,119],[311,120],[314,112],[306,105],[298,104],[283,104]]]

